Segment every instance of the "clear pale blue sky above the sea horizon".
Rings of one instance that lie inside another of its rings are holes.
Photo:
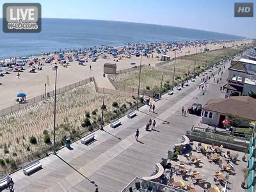
[[[40,3],[43,18],[118,20],[202,29],[256,38],[256,15],[235,18],[234,3],[254,0],[15,0]],[[2,17],[2,8],[0,17]]]

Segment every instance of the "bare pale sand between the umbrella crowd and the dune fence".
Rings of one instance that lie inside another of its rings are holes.
[[[203,49],[207,47],[210,50],[220,49],[225,45],[226,47],[232,47],[233,45],[248,44],[252,40],[240,40],[236,42],[226,42],[218,44],[207,44],[206,46],[198,47]],[[198,49],[198,52],[200,52]],[[188,52],[189,51],[189,52]],[[184,47],[181,51],[177,51],[177,57],[193,54],[196,52],[195,47]],[[175,56],[175,51],[166,52],[168,56],[173,58]],[[58,88],[67,86],[68,84],[76,83],[88,77],[95,77],[97,86],[104,88],[115,89],[113,85],[109,82],[107,77],[103,77],[103,65],[104,63],[116,63],[117,70],[122,70],[125,68],[133,67],[131,62],[135,62],[136,65],[140,65],[140,57],[132,56],[132,58],[124,58],[118,62],[114,61],[116,58],[113,58],[111,54],[107,54],[109,59],[99,58],[96,62],[88,60],[86,66],[78,65],[78,61],[70,62],[70,66],[67,68],[59,66],[58,68]],[[156,58],[159,56],[160,58]],[[38,57],[42,58],[42,57]],[[161,62],[161,54],[154,52],[154,58],[147,58],[143,56],[142,65],[154,66],[156,63]],[[55,60],[53,63],[56,62]],[[42,62],[44,63],[44,61]],[[0,77],[0,86],[1,95],[0,95],[0,109],[7,108],[13,104],[17,104],[15,99],[17,98],[17,93],[23,92],[27,94],[27,99],[31,99],[37,95],[42,95],[45,93],[45,83],[47,83],[47,76],[49,76],[49,85],[47,85],[47,92],[54,90],[54,77],[55,72],[51,69],[51,63],[45,63],[43,70],[36,70],[36,73],[29,73],[29,67],[26,65],[24,67],[26,70],[20,72],[20,77],[17,77],[17,72],[11,72],[6,74],[4,77]],[[90,65],[92,65],[92,70],[90,70]]]

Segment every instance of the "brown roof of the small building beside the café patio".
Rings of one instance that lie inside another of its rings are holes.
[[[209,99],[203,109],[218,113],[232,113],[248,120],[256,120],[256,99],[249,96]]]

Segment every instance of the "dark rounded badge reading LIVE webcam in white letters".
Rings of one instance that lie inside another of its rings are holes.
[[[41,4],[39,3],[4,3],[4,33],[40,33]]]

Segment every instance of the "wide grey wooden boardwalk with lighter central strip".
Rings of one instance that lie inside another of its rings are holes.
[[[227,68],[227,67],[226,67]],[[226,79],[223,74],[223,80]],[[209,84],[204,96],[199,95],[195,83],[174,95],[163,95],[156,104],[156,113],[148,113],[148,106],[137,112],[138,116],[121,119],[122,125],[105,131],[96,131],[97,141],[89,146],[80,141],[72,144],[73,150],[63,148],[58,156],[40,160],[43,169],[25,176],[22,170],[13,173],[17,191],[120,191],[134,177],[147,177],[154,172],[155,164],[167,156],[168,149],[179,143],[181,135],[197,125],[200,117],[181,116],[181,108],[193,102],[206,102],[209,98],[224,97],[219,84]],[[224,84],[224,82],[222,83]],[[149,118],[156,119],[157,131],[145,132]],[[135,141],[135,131],[140,129],[140,142]]]

